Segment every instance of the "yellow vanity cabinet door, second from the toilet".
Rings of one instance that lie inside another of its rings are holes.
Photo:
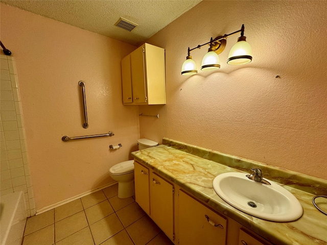
[[[174,186],[150,173],[150,217],[171,239],[174,239]]]

